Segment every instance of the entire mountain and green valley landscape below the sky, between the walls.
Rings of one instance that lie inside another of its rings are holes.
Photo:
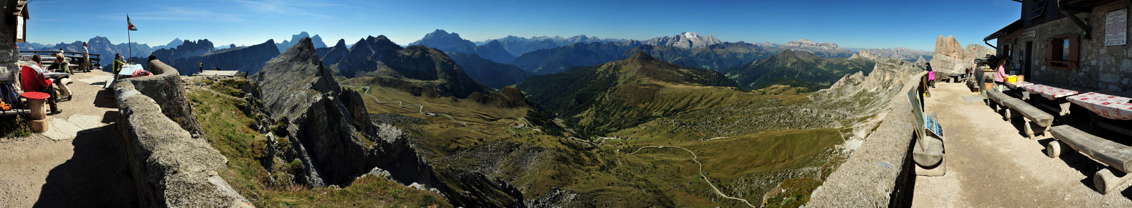
[[[796,207],[923,71],[909,59],[931,59],[668,34],[328,45],[301,32],[134,57],[249,73],[183,79],[228,159],[218,176],[256,207]]]

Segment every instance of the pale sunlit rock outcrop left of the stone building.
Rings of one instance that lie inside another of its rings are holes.
[[[940,35],[935,37],[935,53],[932,54],[932,69],[936,76],[963,73],[967,68],[975,68],[975,59],[995,54],[995,51],[983,45],[968,44],[963,47],[954,36]]]

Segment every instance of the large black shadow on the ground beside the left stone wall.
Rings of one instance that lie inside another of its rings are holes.
[[[34,207],[137,207],[115,128],[79,131],[75,155],[51,170]]]

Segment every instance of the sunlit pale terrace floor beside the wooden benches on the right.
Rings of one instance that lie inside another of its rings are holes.
[[[925,112],[938,113],[947,137],[946,174],[916,176],[912,207],[1132,207],[1132,182],[1100,194],[1092,188],[1099,163],[1075,151],[1049,158],[1048,132],[1030,140],[985,103],[963,102],[978,95],[963,84],[936,87]]]

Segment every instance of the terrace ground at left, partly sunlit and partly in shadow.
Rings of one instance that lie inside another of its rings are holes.
[[[92,118],[74,139],[52,140],[42,133],[0,141],[0,207],[135,207],[132,180],[113,122],[118,119],[113,92],[102,83],[78,79],[110,76],[79,72],[68,85],[75,96],[59,103],[52,121]],[[74,116],[78,115],[78,116]],[[92,115],[92,116],[85,116]]]

